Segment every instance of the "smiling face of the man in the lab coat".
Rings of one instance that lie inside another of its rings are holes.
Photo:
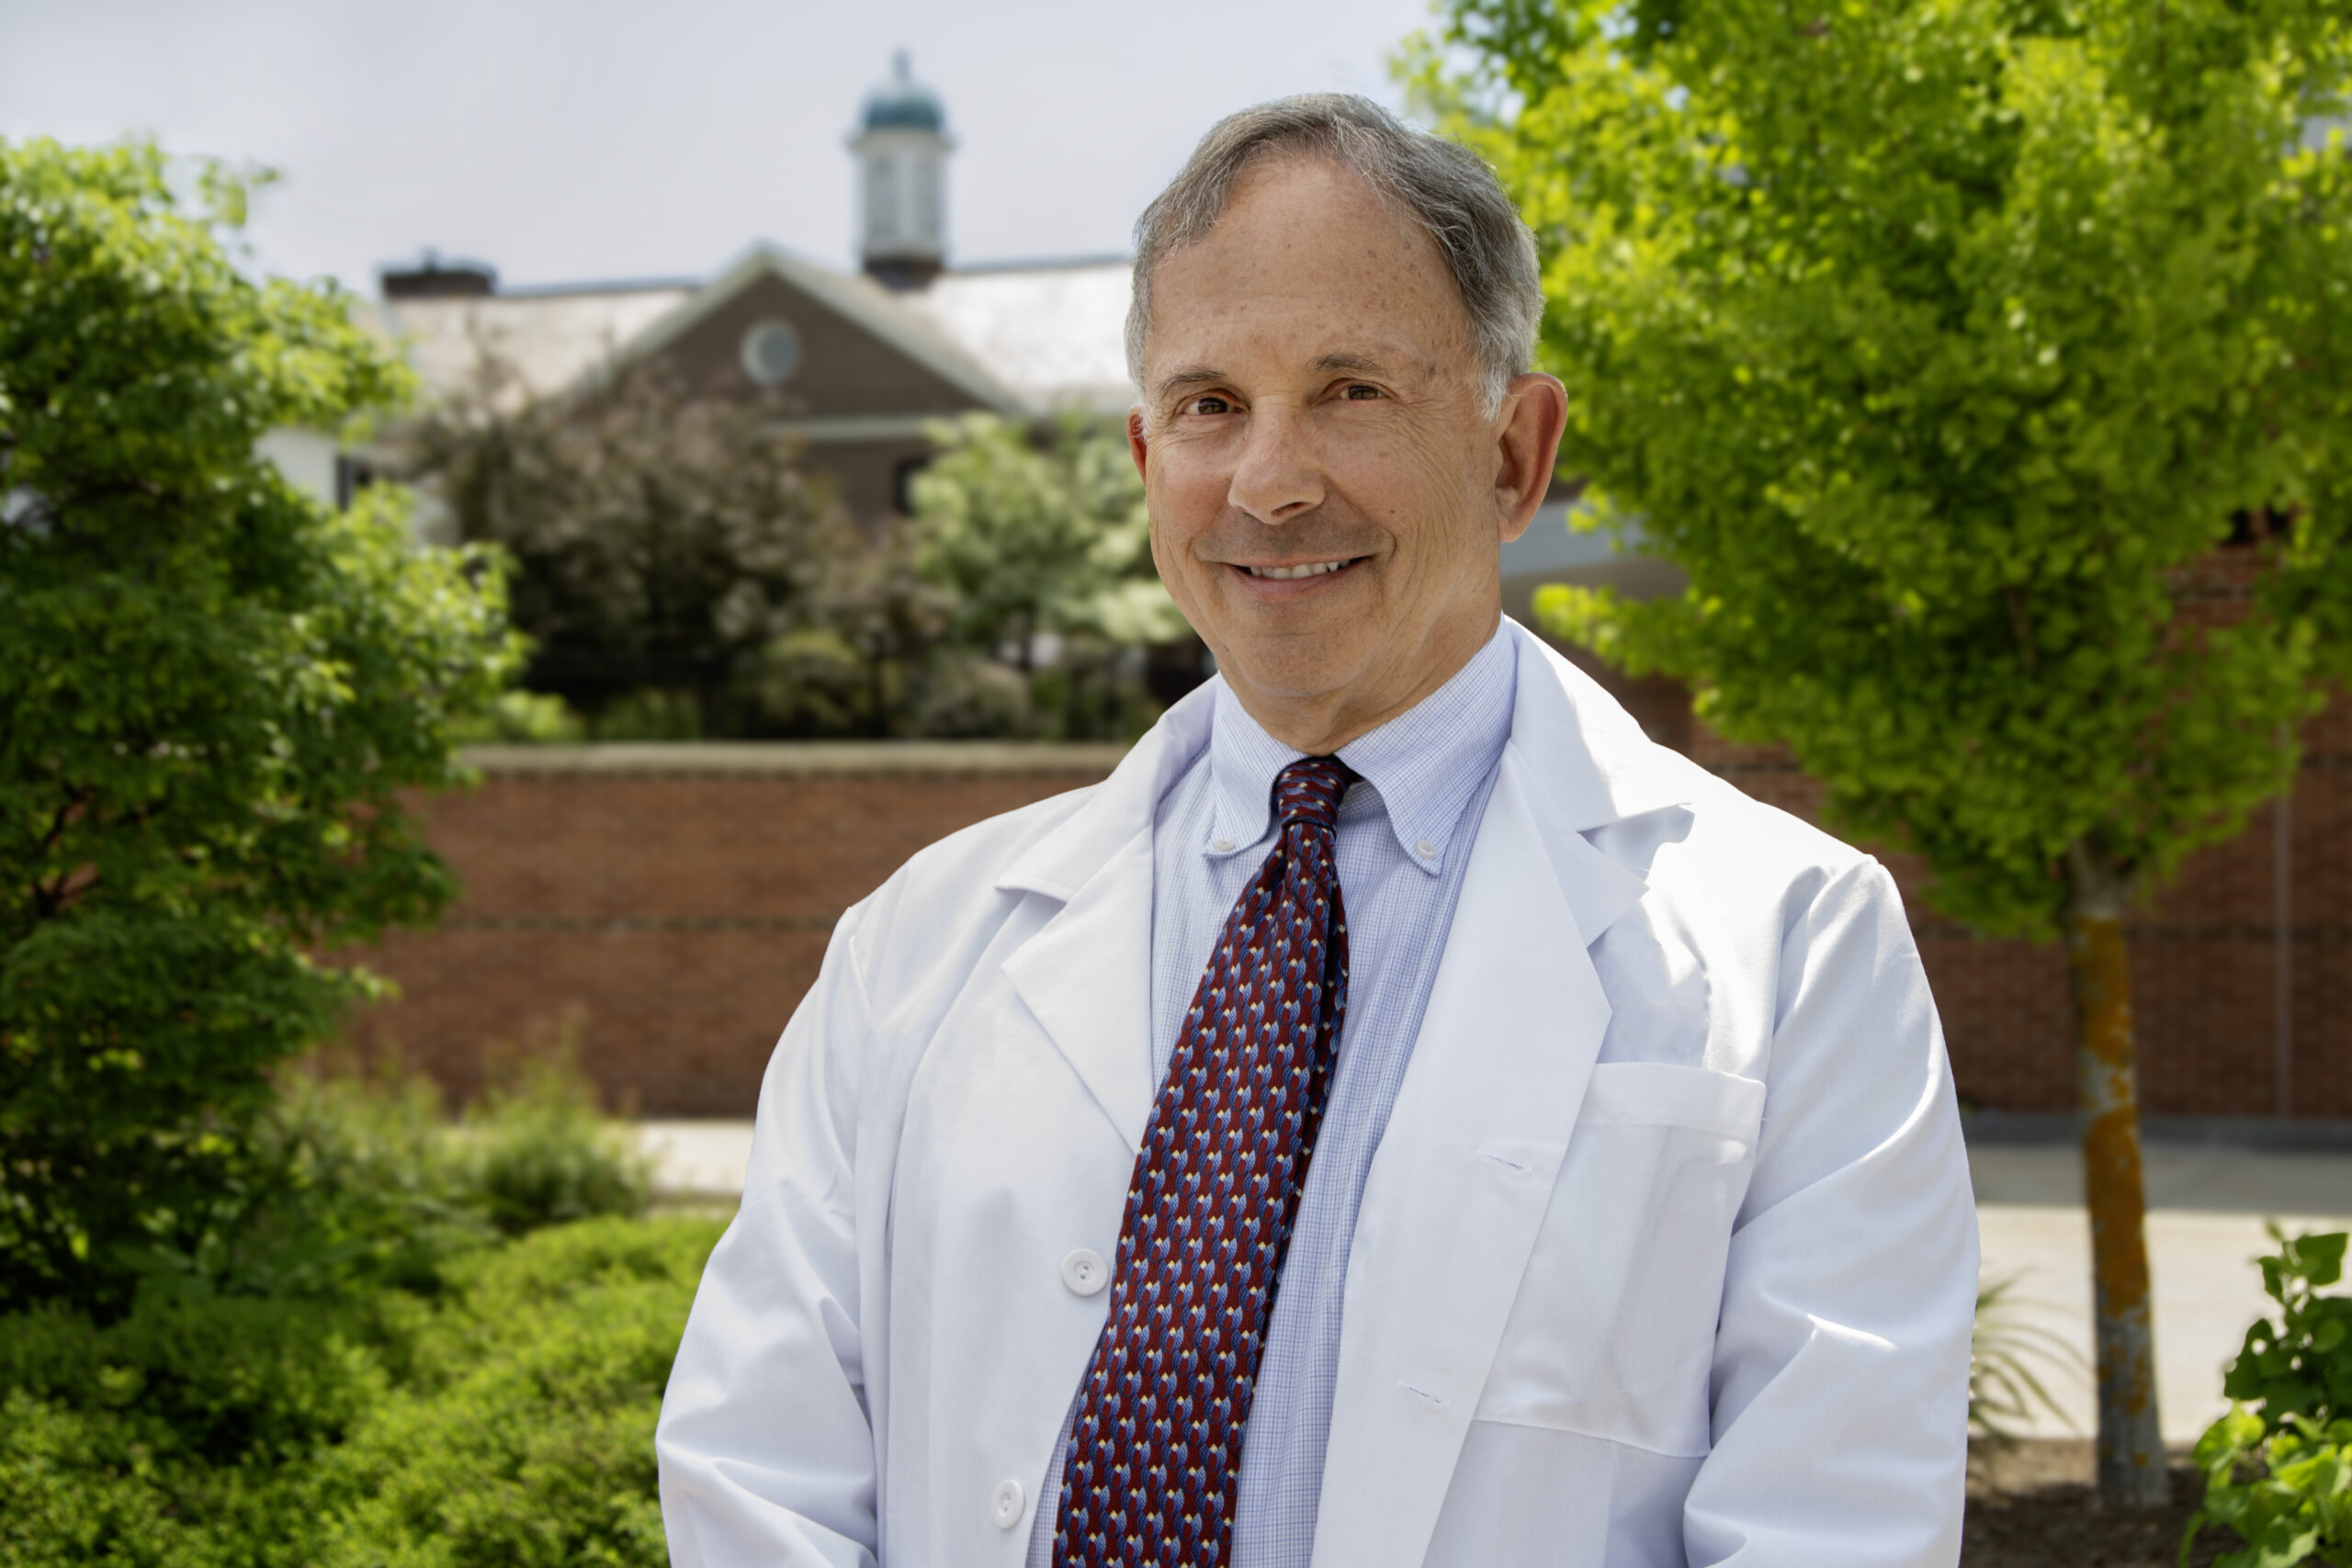
[[[1152,557],[1261,724],[1343,743],[1494,632],[1501,541],[1559,437],[1552,421],[1541,458],[1519,454],[1543,470],[1526,501],[1524,390],[1482,409],[1437,244],[1327,160],[1258,165],[1160,263],[1129,421]]]

